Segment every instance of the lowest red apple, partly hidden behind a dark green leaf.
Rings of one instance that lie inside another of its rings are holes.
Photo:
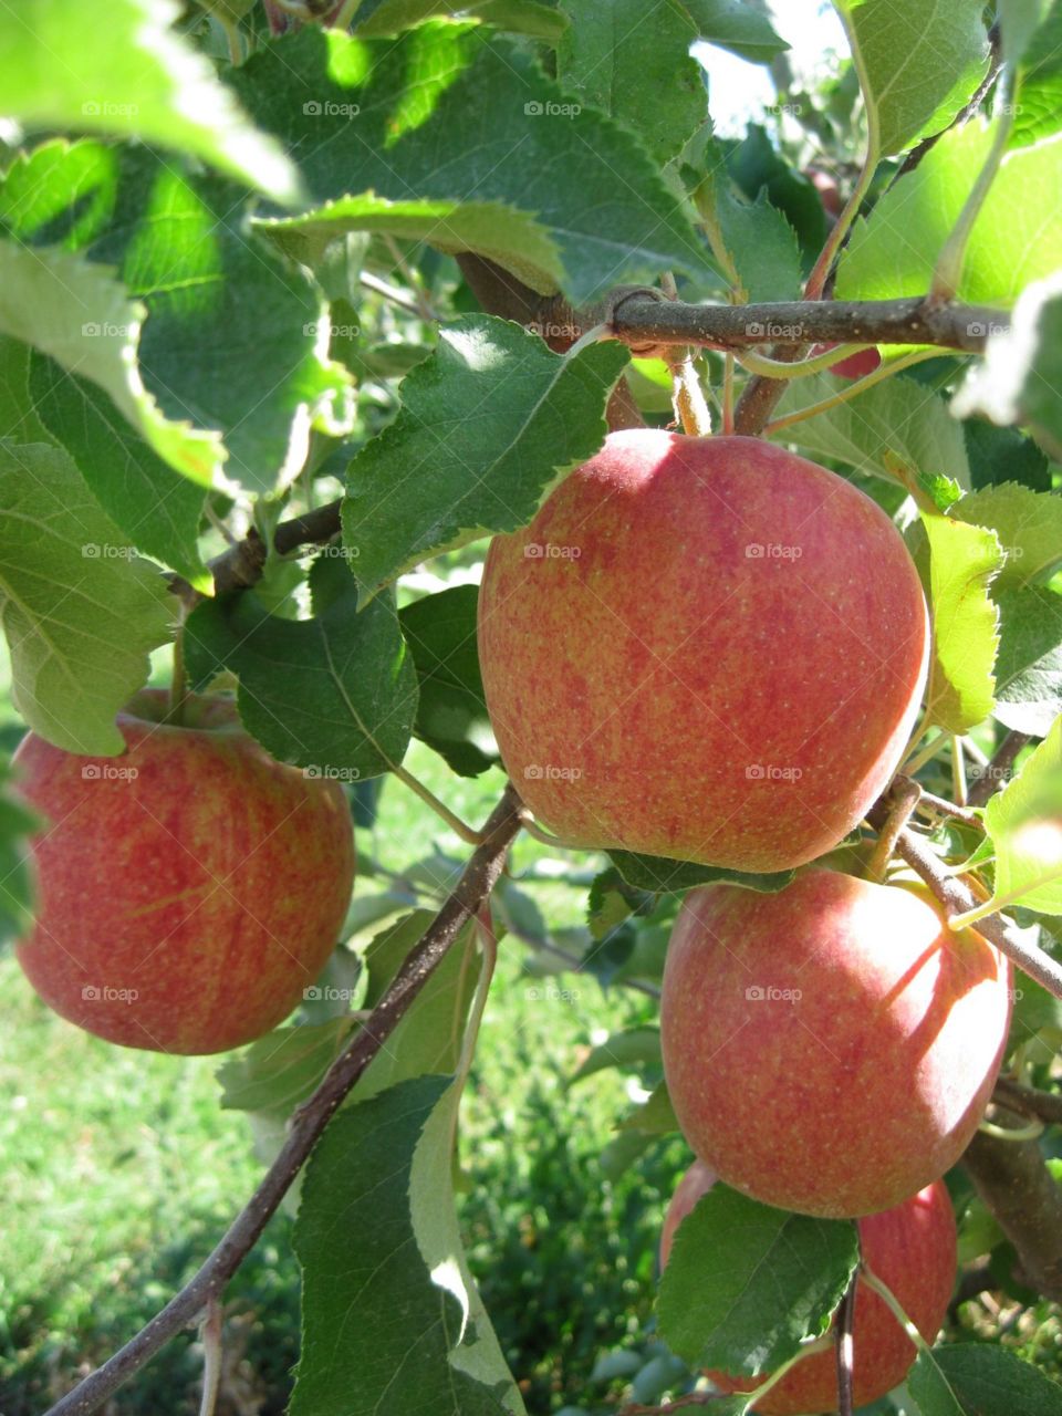
[[[680,1181],[664,1216],[660,1267],[671,1253],[674,1232],[715,1177],[695,1161]],[[935,1181],[910,1199],[858,1221],[862,1256],[899,1298],[901,1307],[932,1342],[952,1300],[957,1264],[954,1214],[947,1187]],[[877,1293],[860,1281],[855,1290],[854,1403],[867,1406],[898,1386],[915,1361],[915,1344]],[[750,1392],[765,1378],[707,1372],[724,1392]],[[763,1416],[818,1416],[837,1410],[837,1365],[833,1352],[816,1352],[782,1378],[752,1409]]]

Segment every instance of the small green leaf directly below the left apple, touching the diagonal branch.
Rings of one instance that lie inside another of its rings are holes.
[[[347,1014],[268,1032],[218,1068],[222,1107],[290,1116],[320,1085],[355,1027]]]

